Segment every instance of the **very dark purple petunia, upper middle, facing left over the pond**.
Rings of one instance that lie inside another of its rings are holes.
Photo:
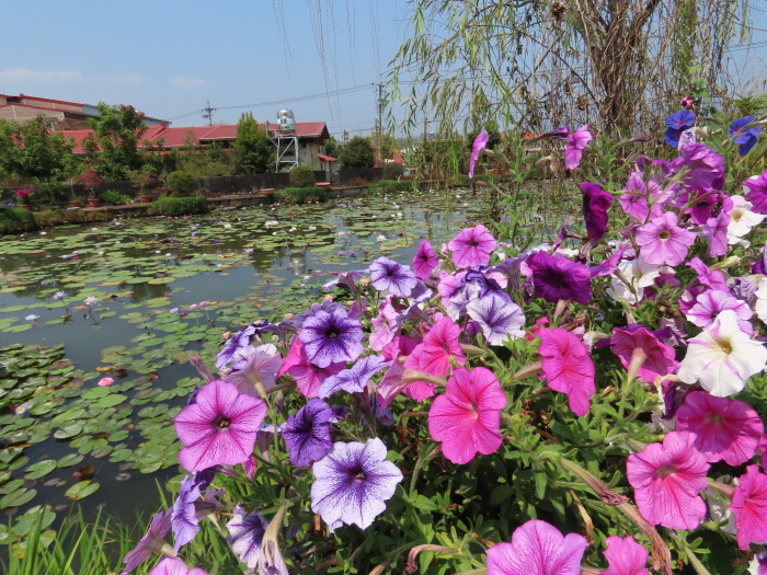
[[[557,257],[546,252],[536,252],[527,258],[533,272],[534,295],[557,303],[568,299],[588,303],[592,299],[588,267],[566,257]]]

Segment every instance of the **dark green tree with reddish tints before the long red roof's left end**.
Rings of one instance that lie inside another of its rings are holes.
[[[96,107],[100,117],[88,120],[93,135],[84,145],[87,160],[104,180],[129,180],[133,172],[141,170],[145,164],[144,154],[138,149],[147,131],[144,112],[133,106],[111,106],[103,102]]]

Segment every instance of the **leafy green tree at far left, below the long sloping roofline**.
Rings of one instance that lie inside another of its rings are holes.
[[[76,172],[72,140],[53,134],[50,126],[50,118],[43,115],[23,125],[0,120],[0,172],[39,182]]]

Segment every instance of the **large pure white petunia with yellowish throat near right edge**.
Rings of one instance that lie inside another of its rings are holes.
[[[767,348],[737,326],[733,310],[724,310],[708,330],[687,342],[678,376],[685,383],[700,382],[717,398],[741,391],[746,380],[767,366]]]

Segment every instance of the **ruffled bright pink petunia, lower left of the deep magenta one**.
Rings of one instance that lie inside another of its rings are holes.
[[[695,448],[695,434],[672,432],[626,462],[639,511],[648,522],[668,529],[695,529],[706,516],[698,495],[708,484],[709,464]]]

